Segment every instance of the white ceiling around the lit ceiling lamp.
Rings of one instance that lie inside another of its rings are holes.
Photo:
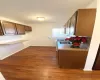
[[[65,23],[79,8],[85,8],[92,0],[0,0],[0,16],[24,22]]]

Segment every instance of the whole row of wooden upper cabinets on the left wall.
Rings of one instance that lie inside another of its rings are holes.
[[[24,35],[25,31],[30,32],[32,28],[27,25],[17,24],[9,21],[0,21],[0,35]]]

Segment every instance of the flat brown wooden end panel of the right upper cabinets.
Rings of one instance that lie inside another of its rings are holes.
[[[77,36],[92,36],[96,9],[79,9],[76,24]]]

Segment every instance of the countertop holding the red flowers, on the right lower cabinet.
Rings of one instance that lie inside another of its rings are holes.
[[[57,50],[80,50],[80,51],[88,51],[89,44],[81,44],[80,48],[71,48],[71,44],[61,44],[60,41],[57,41]]]

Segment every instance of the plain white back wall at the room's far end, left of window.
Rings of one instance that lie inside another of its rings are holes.
[[[56,23],[35,23],[31,24],[32,33],[29,33],[28,39],[30,42],[28,43],[31,46],[55,46],[55,42],[51,39],[52,29],[55,27],[60,27],[59,24]]]

